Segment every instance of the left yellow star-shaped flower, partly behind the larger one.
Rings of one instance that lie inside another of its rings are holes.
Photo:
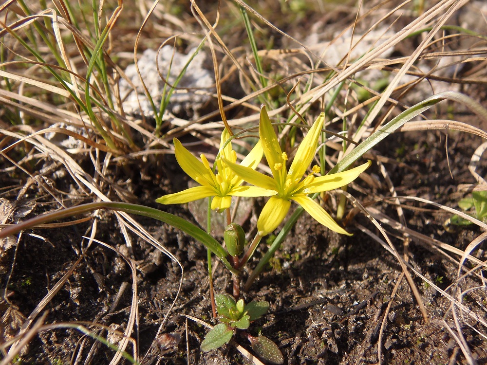
[[[201,186],[191,187],[179,193],[164,195],[156,199],[161,204],[182,204],[188,201],[195,201],[207,197],[213,197],[211,201],[211,209],[222,211],[230,207],[232,196],[235,197],[268,197],[276,194],[275,191],[267,190],[257,186],[241,186],[244,180],[235,175],[232,170],[228,168],[223,159],[235,164],[237,161],[237,153],[232,149],[231,143],[225,147],[224,144],[230,137],[230,134],[225,129],[222,133],[220,143],[220,158],[215,163],[217,164],[218,173],[215,175],[206,159],[205,155],[201,154],[201,161],[194,157],[179,140],[174,138],[174,153],[176,160],[184,172],[199,183]],[[253,171],[262,159],[262,145],[259,141],[257,145],[252,148],[249,154],[244,158],[241,166]],[[237,165],[238,166],[238,165]]]

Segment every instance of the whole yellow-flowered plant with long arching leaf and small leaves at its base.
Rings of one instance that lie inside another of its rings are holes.
[[[262,237],[272,234],[280,226],[281,222],[286,219],[292,201],[299,204],[311,217],[329,229],[340,234],[350,235],[338,225],[315,199],[319,193],[351,183],[371,164],[369,161],[347,170],[346,167],[352,164],[354,160],[344,167],[342,164],[342,169],[339,172],[329,175],[319,175],[322,172],[322,168],[316,164],[308,170],[317,153],[323,121],[324,114],[321,113],[302,139],[292,161],[289,161],[291,159],[286,152],[282,151],[274,126],[265,107],[261,108],[260,113],[260,140],[240,164],[237,162],[237,154],[232,147],[232,139],[235,136],[232,136],[227,129],[222,132],[220,150],[213,164],[210,164],[203,154],[200,155],[201,160],[197,159],[179,140],[173,140],[178,164],[199,185],[181,192],[162,196],[156,201],[161,204],[184,204],[188,201],[204,198],[211,199],[208,209],[216,210],[226,215],[227,227],[225,229],[224,242],[219,242],[208,233],[211,232],[210,223],[208,224],[207,232],[205,232],[186,219],[159,209],[122,202],[88,203],[37,216],[4,228],[0,231],[0,238],[54,219],[62,219],[98,209],[110,209],[142,215],[170,224],[203,243],[209,253],[210,297],[212,298],[214,317],[220,323],[207,333],[205,340],[201,344],[201,349],[203,351],[211,351],[221,347],[227,344],[234,335],[238,334],[247,338],[253,350],[267,362],[282,364],[283,357],[279,347],[262,334],[254,333],[252,335],[252,332],[249,331],[252,322],[266,313],[269,303],[265,301],[244,302],[241,297],[244,267],[254,255]],[[263,156],[265,156],[272,176],[257,171]],[[251,242],[246,242],[243,228],[232,222],[230,215],[232,197],[242,197],[244,199],[249,197],[268,198],[257,220],[257,234]],[[296,211],[299,211],[299,208]],[[296,212],[284,224],[283,230],[278,235],[278,237],[281,237],[280,239],[289,232],[289,226],[296,222],[296,220],[293,220],[295,216]],[[278,243],[276,244],[276,242]],[[267,264],[279,248],[279,242],[274,241],[269,251],[260,260],[257,260],[256,268],[247,278],[244,286],[245,290],[250,287],[262,267]],[[216,255],[222,261],[233,278],[232,294],[219,293],[216,295],[215,300],[213,300],[213,287],[211,285],[210,254]]]

